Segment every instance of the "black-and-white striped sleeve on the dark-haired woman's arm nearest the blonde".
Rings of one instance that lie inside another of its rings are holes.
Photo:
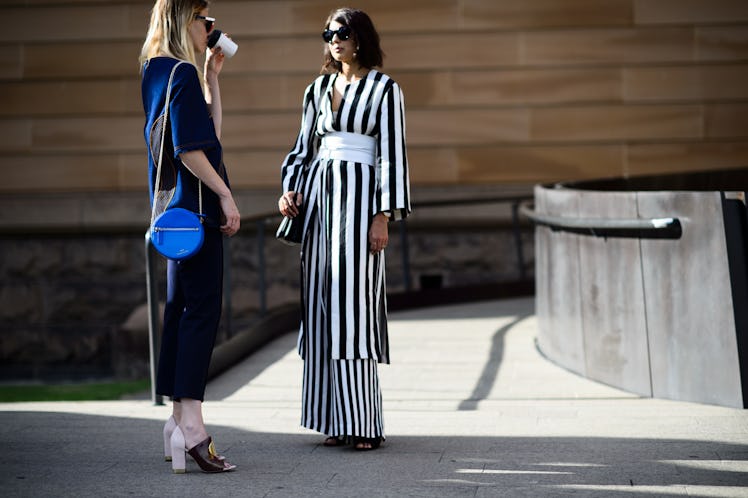
[[[304,166],[314,158],[317,140],[314,130],[317,115],[317,99],[315,87],[319,80],[311,83],[304,91],[304,101],[301,113],[301,126],[291,151],[283,160],[281,166],[281,185],[283,192],[295,190],[299,185],[299,176],[304,173]],[[301,190],[301,188],[299,188]]]

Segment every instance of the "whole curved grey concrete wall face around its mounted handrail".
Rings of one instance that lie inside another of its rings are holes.
[[[535,189],[564,218],[675,217],[672,238],[536,231],[539,347],[638,394],[742,408],[720,192]]]

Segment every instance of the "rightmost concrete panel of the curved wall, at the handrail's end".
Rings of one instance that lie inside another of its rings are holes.
[[[639,193],[639,211],[683,223],[641,243],[653,395],[742,407],[719,192]]]

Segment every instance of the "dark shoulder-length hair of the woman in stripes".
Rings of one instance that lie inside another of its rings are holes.
[[[325,21],[325,29],[329,28],[330,23],[333,21],[351,28],[353,39],[357,45],[356,59],[361,67],[366,69],[382,67],[384,52],[382,52],[382,48],[379,46],[379,34],[366,12],[348,7],[334,10],[327,17],[327,21]],[[330,45],[325,43],[320,73],[337,73],[342,69],[342,66],[340,62],[333,59],[332,53],[330,53]]]

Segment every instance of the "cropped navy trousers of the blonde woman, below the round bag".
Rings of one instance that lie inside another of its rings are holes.
[[[203,247],[166,267],[166,307],[156,392],[178,401],[203,401],[221,319],[223,235],[205,229]]]

